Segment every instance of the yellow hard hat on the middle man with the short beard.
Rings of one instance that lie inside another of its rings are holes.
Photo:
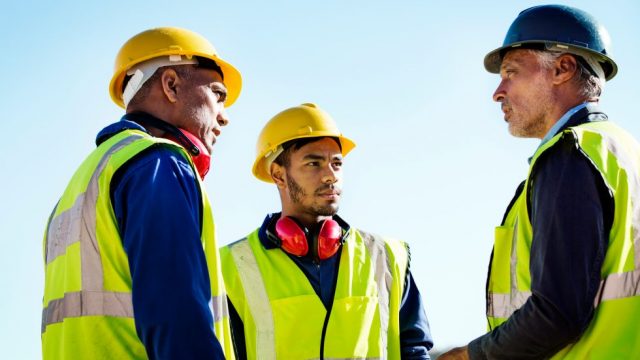
[[[342,136],[333,118],[316,104],[302,104],[280,112],[260,132],[253,175],[272,183],[269,167],[282,152],[282,144],[295,139],[325,136],[340,140],[342,156],[346,156],[356,146],[351,139]]]

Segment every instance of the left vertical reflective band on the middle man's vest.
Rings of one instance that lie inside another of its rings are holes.
[[[271,303],[249,241],[242,239],[229,245],[233,261],[238,269],[249,311],[256,325],[255,353],[259,359],[276,358],[275,324]]]

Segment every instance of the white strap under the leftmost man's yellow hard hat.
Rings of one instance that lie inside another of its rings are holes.
[[[198,64],[198,60],[195,58],[183,58],[181,55],[163,56],[136,64],[135,67],[127,70],[127,75],[131,76],[131,78],[122,93],[122,101],[124,102],[125,109],[129,105],[131,99],[133,99],[133,97],[142,88],[142,85],[144,85],[144,83],[147,82],[147,80],[149,80],[159,68],[163,66],[194,64]]]

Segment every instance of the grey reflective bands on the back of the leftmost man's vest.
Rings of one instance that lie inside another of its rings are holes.
[[[46,264],[49,265],[64,255],[69,246],[79,242],[82,291],[65,293],[63,298],[49,301],[42,312],[43,332],[47,325],[62,322],[66,317],[133,316],[130,293],[103,289],[102,259],[96,235],[96,203],[100,175],[111,156],[141,138],[141,135],[131,135],[112,146],[100,159],[86,191],[78,195],[71,208],[50,220],[45,244]]]

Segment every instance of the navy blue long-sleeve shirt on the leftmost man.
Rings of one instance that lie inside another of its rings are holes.
[[[145,131],[125,115],[96,142],[124,129]],[[196,176],[182,154],[157,146],[125,164],[111,183],[131,270],[136,331],[150,359],[224,358],[209,306]]]

